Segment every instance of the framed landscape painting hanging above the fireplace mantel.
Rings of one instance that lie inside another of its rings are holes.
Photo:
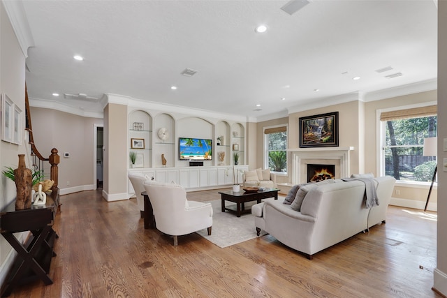
[[[338,112],[300,118],[300,148],[338,147]]]

